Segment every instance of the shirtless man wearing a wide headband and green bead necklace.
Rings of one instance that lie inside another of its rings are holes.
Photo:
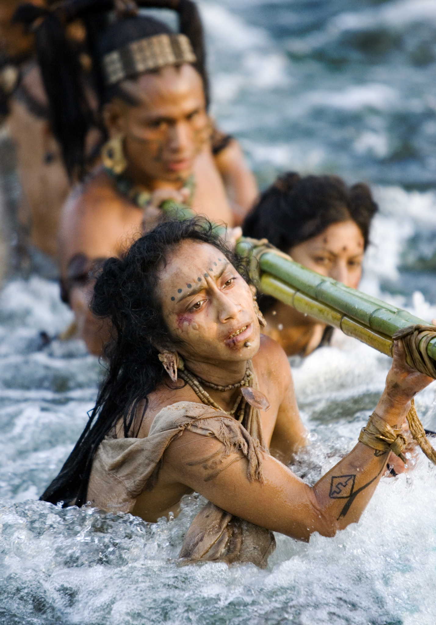
[[[65,3],[64,16],[71,14],[74,4]],[[104,2],[76,4],[81,4],[83,12],[86,4],[101,8]],[[152,17],[124,11],[99,37],[92,55],[96,108],[108,140],[101,151],[102,167],[94,169],[73,192],[63,211],[60,263],[64,300],[74,309],[79,332],[94,353],[101,352],[104,341],[88,311],[86,282],[96,259],[122,254],[127,243],[161,217],[159,206],[164,199],[189,204],[212,221],[229,226],[234,223],[212,149],[201,22],[189,0],[173,4],[173,8],[177,5],[183,32],[172,32]],[[56,9],[58,16],[61,9]],[[47,92],[56,91],[54,97],[59,98],[62,71],[56,82],[53,59],[56,48],[51,54],[46,49],[42,72]],[[77,110],[82,106],[82,116],[90,119],[93,111],[85,99]],[[52,109],[55,118],[64,115],[61,104]],[[88,122],[87,128],[91,125]],[[79,149],[80,133],[76,133],[76,140],[65,118],[57,128],[64,159],[71,173],[77,175],[84,167],[84,159],[80,162],[77,154],[80,157],[84,153],[85,140],[82,138]],[[216,152],[220,147],[235,149],[222,136],[217,143]],[[243,164],[239,174],[240,187],[248,189],[244,212],[256,190],[252,174]]]

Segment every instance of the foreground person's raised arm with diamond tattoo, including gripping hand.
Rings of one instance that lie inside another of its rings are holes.
[[[431,378],[405,364],[402,344],[395,345],[394,361],[385,391],[375,411],[390,426],[400,426],[410,399]],[[234,453],[227,468],[212,478],[212,454],[222,450],[215,439],[185,431],[172,442],[165,456],[167,475],[207,497],[231,514],[296,539],[308,540],[312,532],[334,536],[338,529],[359,520],[386,465],[389,453],[357,443],[331,471],[307,486],[271,456],[263,461],[264,482],[247,479],[247,461]]]

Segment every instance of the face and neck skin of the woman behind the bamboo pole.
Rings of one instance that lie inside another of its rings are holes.
[[[288,253],[294,261],[322,276],[332,277],[352,289],[359,286],[364,237],[351,219],[332,224],[318,236],[291,247]],[[310,354],[319,345],[325,329],[325,324],[279,301],[265,314],[265,319],[265,334],[278,341],[288,356]]]

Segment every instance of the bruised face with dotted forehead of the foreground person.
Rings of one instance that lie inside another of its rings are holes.
[[[159,272],[162,312],[187,361],[240,362],[259,349],[259,322],[247,282],[206,243],[184,241]],[[245,347],[249,341],[250,346]]]

